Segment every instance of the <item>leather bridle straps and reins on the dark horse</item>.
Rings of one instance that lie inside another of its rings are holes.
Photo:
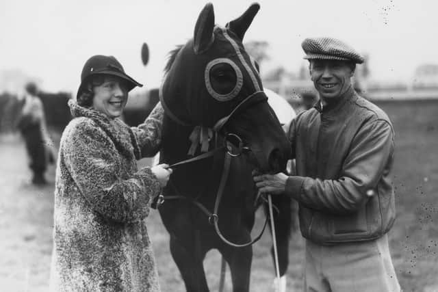
[[[201,211],[203,211],[203,213],[205,213],[208,216],[209,223],[214,225],[214,228],[216,230],[216,233],[218,234],[218,237],[220,237],[220,239],[222,239],[222,241],[224,241],[224,243],[227,243],[227,244],[229,244],[233,247],[236,247],[236,248],[243,248],[243,247],[246,247],[248,245],[252,245],[253,243],[259,241],[259,239],[263,235],[263,232],[266,228],[266,225],[268,224],[268,217],[266,217],[266,221],[263,224],[263,228],[262,228],[260,234],[257,235],[257,237],[255,237],[254,239],[252,239],[251,241],[249,241],[247,243],[233,243],[233,242],[229,241],[227,238],[225,238],[224,235],[222,235],[222,233],[220,232],[220,229],[218,226],[218,221],[219,221],[218,209],[219,209],[220,201],[222,200],[222,195],[224,193],[225,185],[227,183],[227,178],[228,178],[229,170],[230,170],[230,166],[231,166],[231,159],[233,159],[234,157],[239,157],[240,155],[242,155],[243,152],[250,152],[251,151],[250,148],[248,148],[247,146],[244,146],[244,142],[239,137],[239,135],[237,135],[235,133],[226,133],[226,132],[223,133],[224,126],[238,112],[244,111],[245,109],[248,109],[249,107],[252,107],[258,103],[266,102],[267,99],[268,98],[263,93],[263,91],[257,91],[253,94],[250,94],[250,96],[246,97],[242,102],[240,102],[233,109],[233,111],[231,111],[231,113],[229,115],[224,116],[224,118],[221,118],[220,120],[218,120],[218,122],[216,122],[216,124],[213,127],[215,140],[216,140],[216,144],[217,144],[217,141],[218,141],[217,136],[224,135],[224,143],[222,146],[216,145],[216,148],[214,148],[213,150],[209,150],[207,152],[202,153],[201,155],[197,155],[196,157],[192,157],[190,159],[185,159],[183,161],[179,161],[177,163],[173,163],[172,165],[169,165],[169,168],[175,168],[179,165],[192,163],[194,161],[199,161],[202,159],[206,159],[208,157],[213,157],[214,155],[216,155],[216,153],[219,153],[219,152],[225,152],[224,166],[222,168],[220,183],[219,183],[218,191],[216,193],[216,200],[214,202],[213,213],[211,213],[205,206],[203,206],[203,204],[201,204],[201,202],[198,202],[196,199],[188,198],[186,196],[181,196],[179,194],[176,196],[164,196],[164,195],[160,194],[157,198],[157,204],[156,204],[157,207],[159,207],[161,204],[163,204],[165,200],[177,200],[177,199],[189,200],[194,205],[196,205],[199,209],[201,209]],[[164,101],[164,98],[162,96],[162,90],[160,90],[159,100],[161,101],[162,107],[164,108],[164,113],[171,120],[173,120],[177,124],[181,124],[185,127],[192,127],[193,126],[189,122],[185,122],[185,121],[181,120],[181,118],[178,118],[175,114],[172,113],[172,111],[170,111],[169,107],[166,104],[166,101]],[[203,130],[201,130],[201,131],[203,131]],[[207,141],[206,139],[208,139],[208,135],[204,134],[203,135],[203,140],[204,140],[203,144],[205,144],[205,141]],[[175,191],[177,191],[177,188],[175,187],[175,185],[173,187],[174,187]],[[257,198],[256,198],[256,200],[257,200]]]

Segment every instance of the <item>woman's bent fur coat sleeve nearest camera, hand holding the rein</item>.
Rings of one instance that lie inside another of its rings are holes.
[[[149,214],[149,201],[160,185],[150,168],[120,178],[120,154],[91,122],[83,123],[62,148],[64,163],[92,209],[114,222],[136,222]]]

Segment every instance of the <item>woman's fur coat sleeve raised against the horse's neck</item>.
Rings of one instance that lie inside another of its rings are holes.
[[[142,124],[131,128],[136,135],[142,157],[153,157],[161,148],[163,116],[164,109],[158,102]]]

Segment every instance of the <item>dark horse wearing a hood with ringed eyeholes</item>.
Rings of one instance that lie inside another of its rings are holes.
[[[242,44],[258,10],[257,3],[250,5],[220,27],[207,3],[194,37],[170,53],[164,70],[160,163],[174,172],[156,203],[187,291],[209,291],[203,259],[211,249],[228,263],[233,291],[249,291],[251,244],[261,236],[251,239],[250,232],[263,197],[257,195],[252,172],[281,172],[289,155],[290,144],[268,105],[257,66]],[[272,200],[284,275],[291,200]]]

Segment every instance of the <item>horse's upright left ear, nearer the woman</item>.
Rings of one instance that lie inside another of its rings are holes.
[[[194,27],[194,53],[206,51],[214,41],[214,10],[213,4],[205,4]]]

